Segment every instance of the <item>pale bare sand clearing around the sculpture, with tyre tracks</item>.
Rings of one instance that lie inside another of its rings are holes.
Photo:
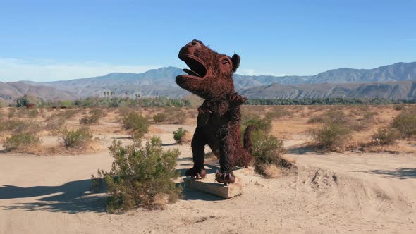
[[[178,170],[192,166],[189,145],[174,144],[180,125],[152,125],[164,148],[181,150]],[[182,125],[181,125],[182,126]],[[193,131],[193,125],[185,125]],[[163,210],[106,214],[90,177],[108,170],[106,147],[93,154],[0,154],[0,233],[416,233],[415,154],[324,154],[286,140],[298,174],[250,176],[243,195],[221,199],[184,189]],[[44,137],[45,144],[54,144]]]

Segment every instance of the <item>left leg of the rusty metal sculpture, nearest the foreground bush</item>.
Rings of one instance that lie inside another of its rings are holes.
[[[185,172],[185,176],[204,178],[207,174],[204,170],[205,144],[204,129],[202,127],[197,127],[191,142],[194,166]]]

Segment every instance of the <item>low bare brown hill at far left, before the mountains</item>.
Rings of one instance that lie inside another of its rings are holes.
[[[0,100],[2,101],[15,101],[25,94],[39,97],[45,101],[74,98],[71,92],[57,90],[54,87],[29,85],[25,82],[0,82]]]

